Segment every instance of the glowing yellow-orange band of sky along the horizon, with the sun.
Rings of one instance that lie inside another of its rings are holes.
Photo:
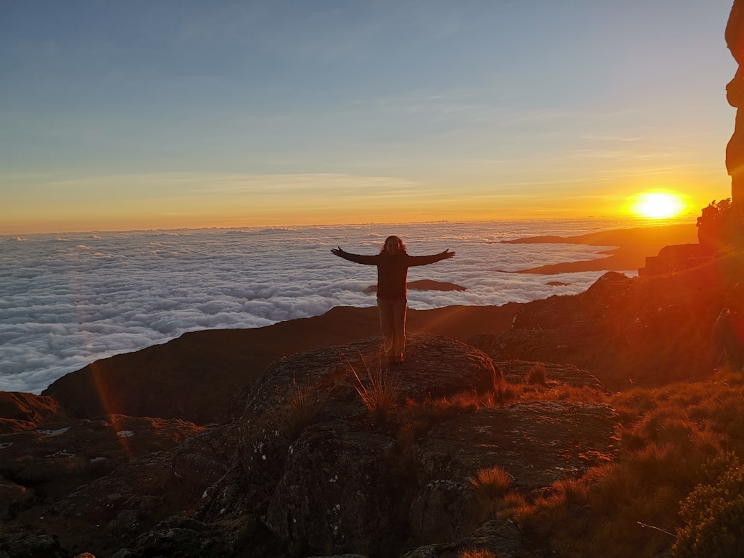
[[[542,219],[583,219],[638,217],[663,221],[682,217],[685,212],[698,214],[710,199],[729,195],[711,181],[691,184],[673,181],[679,189],[661,189],[648,184],[612,185],[607,190],[581,193],[565,192],[554,198],[525,194],[502,196],[478,193],[477,196],[452,195],[426,199],[401,193],[394,207],[374,198],[359,196],[343,203],[321,190],[311,199],[289,196],[284,205],[264,199],[264,205],[248,205],[243,199],[196,204],[191,199],[167,197],[153,200],[144,208],[130,205],[106,209],[100,205],[58,205],[60,211],[41,211],[18,207],[7,219],[0,219],[0,234],[23,235],[89,231],[132,231],[178,228],[244,228],[304,225],[347,225],[405,222],[530,221]],[[230,202],[228,204],[228,202]],[[228,207],[229,205],[229,207]],[[2,213],[0,208],[0,214]],[[1,215],[0,215],[1,217]]]

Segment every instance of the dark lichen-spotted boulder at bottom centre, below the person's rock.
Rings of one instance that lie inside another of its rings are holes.
[[[393,445],[344,423],[308,427],[289,447],[266,525],[307,550],[394,556],[406,530],[396,509]]]

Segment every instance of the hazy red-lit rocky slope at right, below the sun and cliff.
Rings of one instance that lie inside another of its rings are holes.
[[[507,333],[470,339],[494,360],[575,365],[612,390],[709,376],[711,331],[744,255],[673,275],[609,272],[586,292],[526,304]]]

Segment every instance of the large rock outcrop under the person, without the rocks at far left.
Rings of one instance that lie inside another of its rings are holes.
[[[523,403],[455,410],[419,437],[406,437],[394,413],[374,422],[362,404],[350,369],[359,367],[352,359],[351,366],[344,365],[343,359],[354,353],[373,370],[369,362],[379,354],[379,341],[365,339],[275,362],[237,395],[233,407],[243,409],[240,474],[228,475],[232,487],[216,487],[214,503],[202,507],[200,518],[264,516],[266,527],[301,555],[397,556],[422,543],[458,541],[483,525],[487,518],[469,484],[480,469],[503,466],[514,486],[529,491],[615,455],[618,417],[606,405]],[[522,378],[529,366],[503,363],[510,365],[516,368],[509,371],[514,378]],[[412,336],[405,364],[380,373],[398,382],[398,403],[408,400],[407,406],[493,390],[501,378],[483,353],[432,336]],[[364,382],[366,372],[357,374]],[[318,406],[307,426],[287,435],[283,418],[298,413],[292,401],[297,386],[333,397]],[[236,504],[219,496],[240,493],[240,483],[253,487],[248,498]],[[511,533],[502,541],[506,546],[491,550],[503,554],[504,548],[519,547],[503,555],[523,555],[513,526],[501,529]]]

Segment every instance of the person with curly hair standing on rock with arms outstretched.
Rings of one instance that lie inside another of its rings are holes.
[[[379,254],[374,256],[350,254],[341,250],[341,246],[332,248],[331,254],[350,262],[362,263],[365,266],[377,266],[377,310],[379,310],[385,358],[388,364],[403,362],[405,312],[408,310],[406,298],[408,268],[446,260],[454,257],[455,252],[447,249],[431,256],[409,256],[405,251],[403,240],[399,237],[388,237]]]

